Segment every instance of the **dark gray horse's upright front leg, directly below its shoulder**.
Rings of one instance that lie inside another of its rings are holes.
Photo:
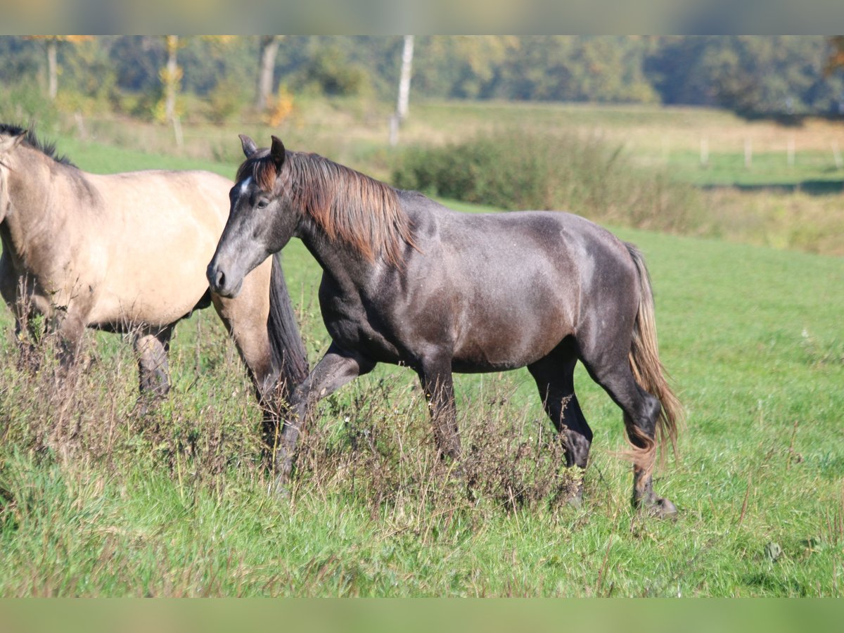
[[[457,431],[451,357],[437,354],[433,359],[423,360],[419,380],[425,390],[425,399],[428,401],[436,445],[441,457],[457,460],[460,458],[460,434]]]

